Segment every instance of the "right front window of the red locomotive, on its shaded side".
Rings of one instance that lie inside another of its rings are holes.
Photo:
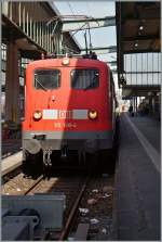
[[[99,86],[99,72],[97,69],[72,69],[71,87],[73,89],[94,89]]]

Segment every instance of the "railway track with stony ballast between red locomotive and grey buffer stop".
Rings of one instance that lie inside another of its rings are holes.
[[[109,191],[104,191],[104,187],[108,187]],[[72,173],[60,174],[50,179],[44,179],[43,176],[28,179],[21,173],[2,184],[2,194],[32,195],[55,192],[63,192],[66,195],[64,228],[60,232],[49,231],[44,240],[63,241],[75,238],[80,224],[89,225],[89,232],[86,231],[89,240],[103,240],[103,238],[107,240],[111,237],[113,176],[107,174],[85,176],[83,173],[81,175]],[[89,204],[87,201],[94,201],[94,204]],[[81,213],[81,208],[87,209],[87,214]]]

